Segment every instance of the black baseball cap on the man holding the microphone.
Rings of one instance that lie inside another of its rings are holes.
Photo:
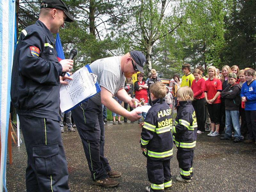
[[[75,19],[68,12],[68,8],[63,1],[61,1],[61,0],[44,0],[42,3],[44,3],[44,4],[41,5],[40,9],[42,9],[42,8],[60,9],[60,10],[64,11],[64,13],[67,15],[67,18],[65,19],[65,21],[67,21],[67,22],[75,21]]]

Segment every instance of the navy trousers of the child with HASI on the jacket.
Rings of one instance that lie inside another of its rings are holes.
[[[164,188],[172,186],[172,175],[170,170],[171,159],[167,160],[151,160],[147,158],[148,181],[151,184],[151,190],[164,191],[164,189],[152,189],[154,186],[164,184]],[[153,186],[152,186],[153,185]]]

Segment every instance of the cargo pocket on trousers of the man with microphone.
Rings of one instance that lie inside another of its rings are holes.
[[[39,175],[59,175],[60,156],[58,143],[51,145],[33,146],[33,157],[35,158],[36,172]]]

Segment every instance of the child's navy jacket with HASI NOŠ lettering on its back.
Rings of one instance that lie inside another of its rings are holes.
[[[172,114],[167,103],[156,99],[148,110],[142,127],[140,147],[146,148],[143,155],[152,160],[172,158]]]

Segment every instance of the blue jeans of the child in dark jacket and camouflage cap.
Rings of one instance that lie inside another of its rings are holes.
[[[241,133],[240,133],[240,123],[239,123],[239,111],[232,111],[232,110],[225,110],[226,114],[226,120],[225,120],[225,126],[226,131],[225,135],[228,138],[231,138],[232,136],[232,124],[235,130],[234,137],[238,139],[242,139]]]

